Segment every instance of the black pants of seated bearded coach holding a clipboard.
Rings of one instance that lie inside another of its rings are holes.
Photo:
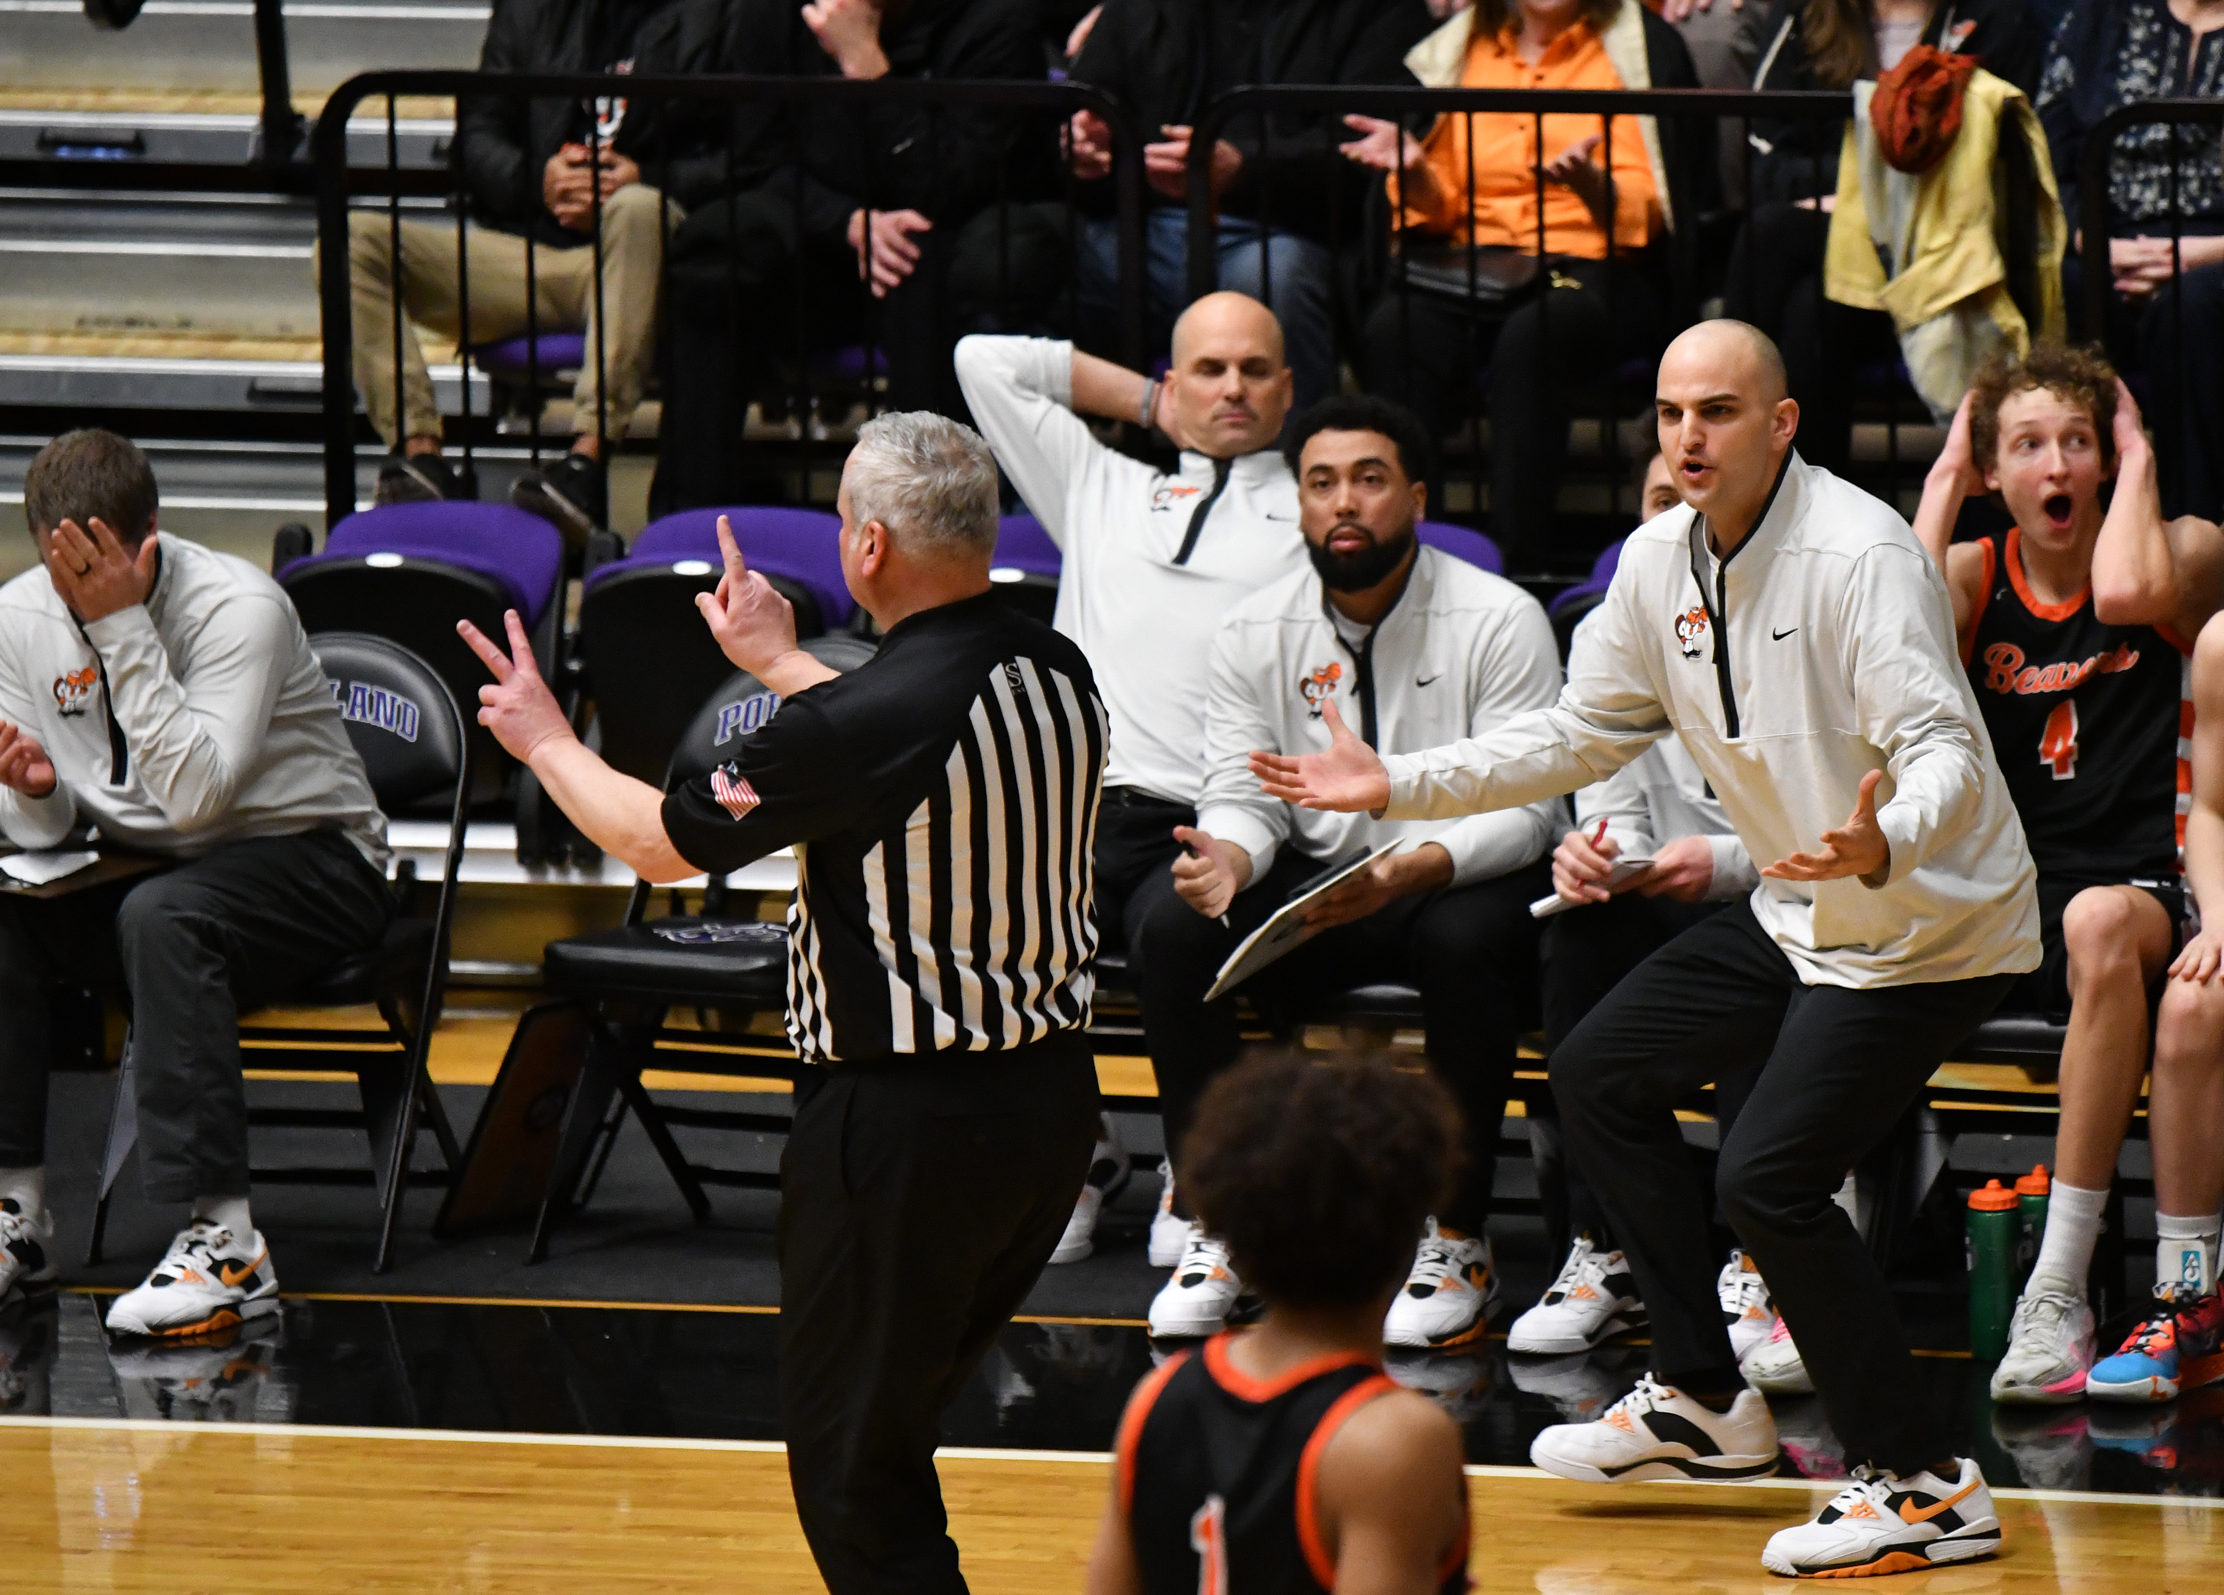
[[[1212,979],[1237,943],[1319,872],[1319,859],[1283,848],[1274,868],[1237,894],[1228,925],[1172,892],[1143,921],[1143,1041],[1159,1077],[1170,1150],[1181,1148],[1205,1086],[1241,1050],[1237,999],[1208,1003]],[[1537,988],[1537,921],[1528,905],[1550,885],[1550,868],[1539,861],[1495,881],[1401,896],[1366,919],[1323,930],[1248,983],[1265,1001],[1370,981],[1421,988],[1428,1063],[1468,1121],[1468,1166],[1437,1219],[1468,1235],[1481,1235],[1490,1217],[1521,1008]],[[1176,1201],[1179,1195],[1176,1188]]]

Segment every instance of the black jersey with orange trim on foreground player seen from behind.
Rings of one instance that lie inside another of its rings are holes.
[[[1394,1388],[1363,1353],[1252,1379],[1228,1361],[1225,1335],[1152,1373],[1119,1433],[1119,1493],[1143,1595],[1332,1591],[1314,1473],[1343,1419]],[[1439,1588],[1468,1588],[1466,1482]]]

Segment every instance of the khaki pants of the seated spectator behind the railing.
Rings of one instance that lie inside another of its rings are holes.
[[[656,189],[634,182],[603,200],[603,316],[609,345],[603,369],[609,385],[607,432],[623,438],[641,403],[649,363],[656,358],[656,283],[663,267],[658,209],[665,227],[678,227],[678,205],[658,207]],[[469,343],[516,338],[525,316],[525,240],[465,225],[471,269]],[[418,349],[416,327],[443,338],[463,336],[463,294],[456,271],[456,227],[451,222],[403,222],[403,427],[394,425],[394,269],[391,222],[383,211],[351,211],[347,218],[347,283],[354,316],[356,387],[371,425],[387,447],[418,436],[440,436],[440,412],[431,398],[431,376]],[[534,249],[534,318],[540,331],[585,331],[587,358],[572,389],[572,429],[596,429],[596,316],[594,247]]]

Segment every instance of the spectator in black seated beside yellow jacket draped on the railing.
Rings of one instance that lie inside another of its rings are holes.
[[[1915,44],[1975,56],[2024,93],[2037,87],[2044,40],[2026,0],[1773,0],[1753,87],[1850,89],[1897,67]],[[1726,316],[1784,349],[1799,400],[1799,456],[1830,472],[1844,472],[1853,456],[1848,371],[1899,360],[1890,316],[1821,294],[1844,138],[1837,118],[1753,120],[1753,216],[1721,289]]]

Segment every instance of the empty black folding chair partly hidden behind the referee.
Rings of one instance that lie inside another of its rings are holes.
[[[854,636],[814,636],[803,647],[834,670],[854,670],[872,654],[872,645]],[[725,750],[772,712],[774,705],[765,699],[765,687],[747,672],[736,672],[714,692],[681,736],[665,790],[714,770]],[[712,879],[703,914],[647,919],[649,894],[649,883],[636,879],[618,930],[552,941],[543,954],[543,983],[552,994],[587,1010],[589,1041],[578,1086],[565,1101],[547,1195],[525,1255],[529,1264],[547,1257],[556,1221],[594,1195],[627,1112],[641,1119],[696,1224],[709,1219],[703,1186],[781,1188],[774,1172],[689,1161],[672,1128],[787,1135],[792,1114],[661,1103],[643,1086],[641,1072],[678,1068],[729,1079],[792,1081],[796,1059],[785,1043],[667,1023],[674,1008],[721,1017],[785,1010],[787,928],[725,917],[723,876]]]

